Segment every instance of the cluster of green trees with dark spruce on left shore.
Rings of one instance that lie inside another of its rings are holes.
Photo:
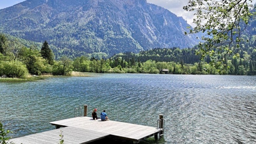
[[[38,50],[37,46],[29,48],[17,39],[10,40],[0,34],[0,76],[26,78],[28,74],[69,75],[73,70],[72,60],[61,57],[54,60],[54,54],[45,41]]]

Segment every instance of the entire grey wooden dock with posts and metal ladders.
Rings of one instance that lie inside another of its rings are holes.
[[[62,131],[62,135],[64,136],[64,143],[67,144],[85,144],[107,136],[137,143],[153,135],[155,138],[157,138],[158,134],[160,136],[163,135],[163,129],[157,129],[155,127],[112,120],[94,120],[92,117],[86,116],[87,105],[84,105],[84,117],[53,121],[50,123],[56,126],[56,130],[14,138],[9,142],[22,144],[57,144],[60,141],[60,131]],[[164,121],[163,115],[159,115],[159,120]],[[163,124],[164,122],[160,123],[159,127],[164,128]]]

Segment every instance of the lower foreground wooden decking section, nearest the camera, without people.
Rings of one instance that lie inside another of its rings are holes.
[[[109,135],[75,127],[64,127],[38,134],[13,138],[9,142],[14,142],[15,144],[57,144],[60,141],[60,131],[62,131],[65,144],[85,144]]]

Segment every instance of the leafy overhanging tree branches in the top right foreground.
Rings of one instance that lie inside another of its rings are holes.
[[[218,61],[212,60],[211,65],[216,68],[224,63],[225,55],[235,54],[235,49],[240,47],[244,40],[241,32],[249,20],[256,13],[250,11],[252,0],[189,0],[183,7],[186,11],[196,11],[193,22],[196,24],[189,33],[203,32],[204,43],[199,44],[198,55],[203,60],[205,56],[218,53],[221,55]],[[185,34],[188,34],[185,32]],[[248,40],[247,40],[248,41]]]

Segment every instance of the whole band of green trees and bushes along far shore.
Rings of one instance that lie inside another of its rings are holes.
[[[72,60],[63,56],[55,60],[47,41],[41,49],[35,45],[28,48],[18,40],[9,40],[4,34],[0,34],[0,77],[4,78],[0,81],[35,81],[50,76],[88,76],[78,72],[158,74],[163,73],[163,69],[168,74],[256,74],[255,48],[244,46],[239,51],[239,58],[230,56],[225,59],[224,67],[220,68],[223,71],[201,62],[195,51],[195,48],[155,48],[138,54],[120,53],[109,59],[81,56]],[[218,57],[206,57],[205,62]]]

